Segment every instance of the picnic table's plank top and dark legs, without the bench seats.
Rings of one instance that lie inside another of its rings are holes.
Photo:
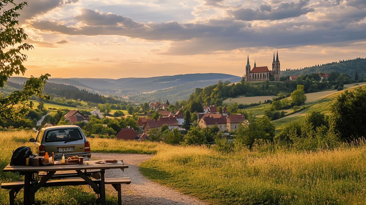
[[[123,161],[120,160],[115,164],[96,164],[97,161],[100,160],[90,160],[89,165],[86,164],[74,164],[74,165],[47,165],[47,166],[30,166],[30,165],[7,165],[3,171],[4,172],[19,172],[21,175],[24,175],[24,204],[31,205],[34,204],[34,194],[41,187],[48,186],[70,186],[70,185],[81,185],[81,184],[89,184],[91,188],[93,188],[96,194],[99,194],[101,204],[105,205],[105,183],[106,179],[104,178],[105,169],[124,169],[128,168],[127,165],[124,165]],[[89,169],[100,169],[100,180],[91,179],[86,175],[83,170]],[[56,173],[56,171],[76,171],[77,175],[82,179],[74,179],[74,180],[53,180],[48,181],[52,178],[52,176]],[[40,181],[34,179],[34,174],[38,172],[47,172],[46,176],[42,177]],[[113,179],[122,179],[122,178],[113,178]],[[129,178],[128,178],[129,179]],[[107,179],[107,183],[112,184],[113,187],[117,190],[116,184],[118,182],[126,181],[126,180],[111,180]],[[131,182],[131,181],[130,181]],[[119,183],[119,204],[120,202],[120,184]],[[19,191],[19,190],[18,190]],[[16,195],[16,193],[15,193]],[[15,197],[15,196],[14,196]]]

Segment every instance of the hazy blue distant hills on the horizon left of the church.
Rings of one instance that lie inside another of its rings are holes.
[[[153,101],[158,98],[169,101],[187,99],[196,87],[216,84],[219,80],[239,82],[241,77],[220,73],[197,73],[151,78],[50,78],[48,82],[72,85],[98,94],[132,96],[136,102]],[[12,77],[11,82],[22,84],[23,77]]]

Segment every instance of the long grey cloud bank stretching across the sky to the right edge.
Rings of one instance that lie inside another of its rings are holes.
[[[286,11],[286,16],[296,9],[309,10],[306,7],[307,2],[262,4],[262,11],[258,12],[277,19],[285,8],[289,10]],[[324,11],[324,14],[314,18],[261,25],[233,18],[209,19],[201,23],[142,23],[122,15],[103,14],[83,8],[81,14],[75,16],[80,23],[66,26],[59,22],[35,21],[31,26],[47,33],[118,35],[149,41],[171,41],[167,51],[161,53],[165,55],[195,55],[238,48],[288,48],[366,38],[366,24],[362,22],[366,15],[365,10],[348,7],[347,10],[329,8]],[[284,17],[284,13],[281,16]]]

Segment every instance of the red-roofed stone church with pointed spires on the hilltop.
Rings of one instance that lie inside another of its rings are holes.
[[[250,68],[249,55],[247,60],[247,65],[245,66],[245,81],[255,82],[255,81],[269,81],[273,76],[275,81],[280,81],[281,70],[280,70],[280,60],[277,57],[275,59],[275,53],[273,53],[272,71],[268,70],[267,66],[257,67],[254,60],[253,69]]]

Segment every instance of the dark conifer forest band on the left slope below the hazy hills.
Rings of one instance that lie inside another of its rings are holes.
[[[14,83],[11,81],[7,82],[8,86],[15,87],[17,89],[22,89],[23,85],[19,83]],[[120,100],[111,98],[111,97],[104,97],[96,93],[90,93],[85,89],[78,89],[72,85],[64,85],[64,84],[57,84],[47,82],[44,86],[44,93],[53,97],[64,97],[66,99],[80,99],[83,101],[89,101],[92,103],[121,103]]]

